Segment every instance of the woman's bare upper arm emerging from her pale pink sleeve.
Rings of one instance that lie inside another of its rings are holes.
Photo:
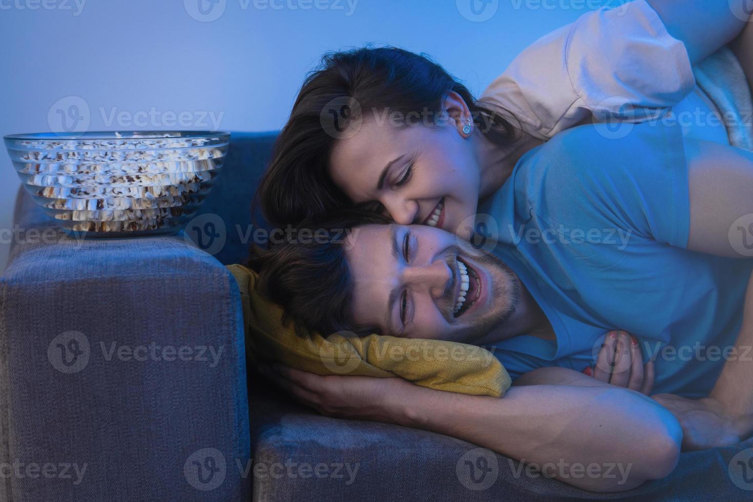
[[[745,20],[733,14],[745,12],[746,0],[730,6],[727,0],[646,0],[657,11],[669,35],[685,44],[691,63],[733,41],[745,27]]]

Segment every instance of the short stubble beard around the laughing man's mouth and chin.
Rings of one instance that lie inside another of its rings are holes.
[[[453,333],[453,341],[472,343],[505,324],[514,315],[520,304],[520,279],[495,255],[479,251],[461,239],[458,239],[458,243],[458,247],[453,246],[448,250],[448,257],[454,258],[460,254],[473,258],[475,263],[489,272],[492,281],[492,290],[489,291],[492,301],[485,307],[486,312],[477,314],[477,317]],[[450,305],[454,305],[454,299],[450,300]]]

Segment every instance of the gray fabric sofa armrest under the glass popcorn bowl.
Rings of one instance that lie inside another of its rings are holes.
[[[47,230],[0,278],[0,500],[248,500],[232,275],[182,236]]]

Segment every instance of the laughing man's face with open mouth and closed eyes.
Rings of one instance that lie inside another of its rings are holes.
[[[519,301],[508,266],[444,230],[367,225],[346,244],[355,323],[386,335],[470,343]]]

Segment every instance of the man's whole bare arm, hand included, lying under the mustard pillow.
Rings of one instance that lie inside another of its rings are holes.
[[[678,421],[654,400],[564,368],[535,370],[529,377],[539,385],[515,386],[501,399],[403,379],[319,376],[288,367],[266,374],[324,415],[458,437],[591,491],[624,491],[667,476],[680,451]]]

